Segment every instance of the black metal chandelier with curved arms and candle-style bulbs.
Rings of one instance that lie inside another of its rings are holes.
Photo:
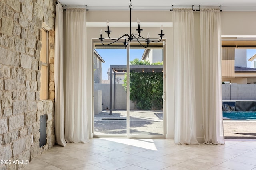
[[[133,33],[132,33],[132,21],[131,21],[131,20],[132,20],[132,0],[130,0],[129,8],[130,8],[130,35],[129,35],[128,33],[126,33],[126,34],[122,35],[122,36],[119,37],[119,38],[115,38],[115,39],[110,38],[110,32],[112,32],[112,31],[110,31],[110,29],[109,29],[109,22],[107,21],[107,29],[108,29],[108,30],[105,31],[105,32],[108,34],[108,38],[109,38],[110,40],[112,40],[113,42],[108,43],[108,44],[104,44],[104,43],[103,43],[104,38],[102,37],[102,29],[101,29],[101,30],[100,30],[100,38],[99,38],[99,40],[101,41],[102,45],[111,45],[111,44],[115,43],[116,41],[119,41],[119,40],[122,39],[122,38],[124,38],[123,44],[124,44],[124,47],[125,47],[125,48],[127,47],[129,41],[131,42],[133,39],[136,39],[136,40],[138,41],[138,43],[140,43],[140,39],[146,40],[145,43],[146,43],[147,45],[142,45],[142,43],[140,43],[140,45],[141,45],[142,47],[144,47],[144,48],[147,48],[147,47],[148,47],[148,44],[149,44],[150,42],[154,42],[154,43],[160,42],[160,41],[162,40],[162,37],[164,36],[164,34],[163,34],[163,25],[161,25],[161,33],[158,34],[158,35],[160,35],[160,40],[159,40],[159,41],[152,41],[152,40],[150,40],[150,39],[149,39],[149,33],[148,33],[148,35],[147,35],[147,38],[144,38],[144,37],[142,37],[142,36],[140,35],[140,32],[141,32],[143,29],[140,29],[140,21],[139,21],[139,20],[137,20],[138,29],[136,29],[136,31],[138,31],[138,34],[133,34]]]

